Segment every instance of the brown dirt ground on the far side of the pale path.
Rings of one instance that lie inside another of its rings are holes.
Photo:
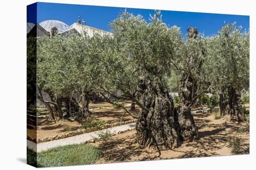
[[[92,110],[91,112],[96,117],[96,120],[101,120],[105,123],[117,123],[120,121],[134,120],[128,113],[124,113],[122,108],[114,108],[111,104],[102,102],[97,104],[89,104],[89,108],[95,107],[109,107]],[[136,109],[133,112],[135,115],[139,112]],[[40,115],[46,115],[47,112],[41,112]],[[47,118],[37,118],[37,132],[35,131],[36,125],[34,119],[27,119],[27,135],[32,138],[43,139],[46,137],[52,137],[55,135],[60,135],[61,133],[66,133],[74,131],[81,128],[81,124],[74,119],[65,119],[63,121],[50,122]],[[34,125],[33,125],[34,124]]]

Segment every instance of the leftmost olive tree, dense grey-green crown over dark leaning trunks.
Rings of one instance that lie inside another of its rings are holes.
[[[56,35],[51,38],[39,38],[37,51],[38,97],[45,104],[53,104],[57,108],[60,119],[63,119],[61,109],[63,102],[68,103],[69,109],[72,104],[73,112],[78,116],[87,117],[91,114],[88,110],[88,91],[91,89],[92,83],[88,76],[91,70],[87,69],[89,50],[90,39],[86,35],[71,34],[68,37]],[[54,94],[56,103],[44,101],[41,90]],[[74,100],[75,91],[83,92],[81,108]],[[50,113],[52,112],[51,108],[48,110]],[[71,110],[67,113],[71,113]]]

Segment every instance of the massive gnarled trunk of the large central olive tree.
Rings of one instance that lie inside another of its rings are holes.
[[[163,89],[160,78],[141,81],[142,101],[148,112],[141,111],[136,124],[136,140],[143,146],[159,150],[174,149],[179,144],[179,126],[175,120],[174,103]]]

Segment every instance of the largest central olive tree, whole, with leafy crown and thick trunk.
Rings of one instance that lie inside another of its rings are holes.
[[[118,88],[141,107],[136,125],[137,142],[165,150],[179,143],[174,104],[164,80],[171,73],[171,60],[177,56],[183,41],[179,28],[168,27],[159,14],[155,11],[147,23],[141,15],[124,11],[110,23],[116,43],[112,55],[125,64],[117,70],[109,69],[116,75],[113,80]],[[140,101],[130,95],[132,90],[141,94]]]

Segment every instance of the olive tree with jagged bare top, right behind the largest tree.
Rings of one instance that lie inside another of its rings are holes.
[[[179,96],[180,105],[175,107],[175,115],[181,128],[181,137],[191,141],[197,137],[191,108],[200,96],[207,92],[203,89],[202,65],[206,57],[207,41],[196,28],[189,27],[186,42],[180,46],[178,57],[172,60],[172,68],[181,72]]]

